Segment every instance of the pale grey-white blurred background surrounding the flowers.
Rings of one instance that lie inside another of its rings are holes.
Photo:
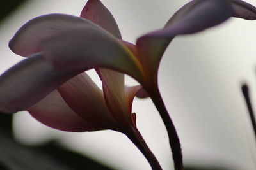
[[[163,27],[187,2],[102,0],[115,17],[123,39],[132,43],[148,31]],[[255,0],[246,2],[256,6]],[[8,48],[8,41],[21,25],[48,13],[79,16],[85,3],[86,0],[28,0],[2,19],[0,73],[22,60]],[[175,38],[164,53],[159,87],[177,128],[186,166],[256,169],[256,143],[241,93],[241,84],[248,83],[256,107],[255,30],[256,21],[231,18],[198,34]],[[100,85],[97,75],[89,73]],[[127,77],[126,83],[134,85],[136,81]],[[163,169],[173,169],[166,130],[152,101],[135,99],[132,111],[137,113],[138,129]],[[54,139],[113,169],[150,169],[139,150],[118,132],[56,131],[26,111],[15,114],[13,131],[22,146],[42,145]]]

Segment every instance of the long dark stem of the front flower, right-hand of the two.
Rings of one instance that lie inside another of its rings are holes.
[[[163,99],[159,92],[159,88],[155,87],[154,90],[150,90],[150,97],[152,98],[153,103],[155,104],[159,114],[164,122],[166,130],[168,132],[169,143],[172,149],[173,163],[175,170],[183,170],[183,162],[182,162],[182,151],[180,146],[179,136],[175,129],[175,126],[166,110],[166,107],[163,103]]]

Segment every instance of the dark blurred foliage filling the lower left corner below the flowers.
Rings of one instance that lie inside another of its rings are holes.
[[[12,136],[12,115],[0,113],[0,169],[111,170],[89,157],[51,141],[40,146],[21,145]]]

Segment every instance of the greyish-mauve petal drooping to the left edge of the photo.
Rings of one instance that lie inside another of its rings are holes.
[[[41,53],[24,59],[0,76],[0,111],[26,110],[79,73],[54,71]]]

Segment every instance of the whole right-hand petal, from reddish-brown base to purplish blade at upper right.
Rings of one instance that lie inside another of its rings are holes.
[[[225,0],[195,0],[180,8],[163,29],[141,36],[136,45],[145,69],[148,86],[157,81],[157,70],[164,50],[179,34],[192,34],[224,22],[232,15]],[[152,78],[153,80],[149,80]]]

